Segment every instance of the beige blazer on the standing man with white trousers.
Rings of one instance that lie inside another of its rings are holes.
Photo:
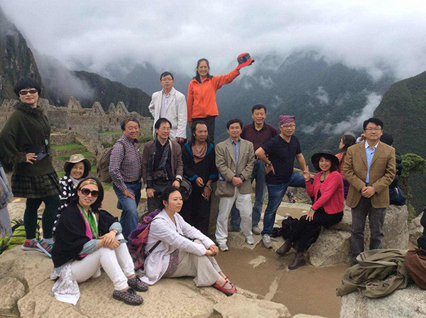
[[[244,177],[245,181],[239,186],[239,192],[241,194],[251,193],[251,172],[253,172],[254,168],[253,143],[241,138],[238,168],[236,168],[234,147],[229,138],[226,141],[222,141],[222,143],[218,143],[215,150],[216,167],[220,174],[216,195],[218,197],[232,197],[234,195],[232,177],[239,177],[240,175]]]

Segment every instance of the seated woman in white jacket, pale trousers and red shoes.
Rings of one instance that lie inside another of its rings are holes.
[[[213,285],[226,295],[233,295],[236,287],[214,259],[219,248],[179,215],[183,203],[179,190],[167,187],[162,200],[164,209],[151,222],[145,249],[151,251],[157,246],[145,259],[141,280],[152,285],[162,277],[190,276],[195,278],[197,287]]]

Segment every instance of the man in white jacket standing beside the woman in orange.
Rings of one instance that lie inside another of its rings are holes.
[[[170,121],[170,139],[180,144],[186,139],[187,104],[185,95],[178,92],[173,83],[175,79],[170,72],[163,72],[160,75],[160,84],[163,90],[155,92],[148,106],[154,117],[154,124],[159,118]],[[155,128],[153,128],[153,139],[155,139]]]

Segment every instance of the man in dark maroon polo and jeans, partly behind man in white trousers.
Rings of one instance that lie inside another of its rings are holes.
[[[262,104],[254,105],[251,109],[252,124],[243,127],[241,138],[253,143],[254,151],[258,150],[266,141],[278,135],[278,131],[274,126],[265,123],[266,119],[266,106]],[[251,183],[256,180],[256,199],[253,205],[253,212],[251,213],[251,231],[253,234],[261,234],[259,229],[259,221],[261,220],[261,212],[263,207],[263,198],[265,197],[266,190],[266,165],[259,158],[255,157],[254,168],[251,173]],[[231,210],[231,231],[239,231],[241,217],[235,205]]]

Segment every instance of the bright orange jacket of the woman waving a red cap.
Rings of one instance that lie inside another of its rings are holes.
[[[206,77],[200,84],[197,79],[192,79],[188,86],[187,108],[188,121],[193,118],[206,118],[207,116],[218,116],[216,104],[216,92],[222,85],[229,84],[238,75],[235,69],[227,75]]]

